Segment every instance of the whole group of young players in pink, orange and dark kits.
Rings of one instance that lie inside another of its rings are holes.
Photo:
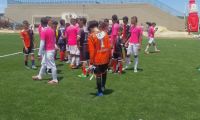
[[[41,80],[46,71],[51,70],[52,80],[49,84],[58,84],[55,60],[59,51],[60,61],[70,63],[71,69],[82,67],[79,77],[85,78],[92,71],[96,75],[97,95],[102,96],[105,90],[107,71],[122,74],[131,64],[131,55],[134,57],[134,72],[138,72],[139,51],[142,47],[143,26],[138,25],[138,18],[131,17],[131,25],[128,17],[123,17],[123,25],[119,24],[117,15],[112,16],[112,26],[109,20],[89,21],[87,19],[71,16],[70,23],[65,20],[58,22],[51,17],[43,17],[38,28],[40,47],[38,57],[41,60],[41,68],[34,80]],[[149,42],[145,53],[151,44],[155,51],[159,52],[154,41],[156,32],[155,23],[148,24]],[[29,29],[29,23],[23,22],[24,29],[21,37],[24,43],[25,65],[28,67],[28,54],[31,54],[32,67],[36,69],[34,62],[34,36]],[[123,61],[125,66],[123,67]]]

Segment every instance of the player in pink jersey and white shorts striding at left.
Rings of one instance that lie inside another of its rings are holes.
[[[45,74],[45,71],[47,68],[51,69],[52,71],[52,80],[50,80],[49,84],[57,84],[57,68],[56,63],[54,59],[55,55],[55,49],[56,49],[56,39],[55,39],[55,32],[53,30],[53,24],[52,19],[46,18],[45,20],[45,26],[48,26],[44,28],[44,30],[41,32],[41,41],[40,41],[40,49],[38,55],[42,57],[42,63],[40,72],[37,76],[33,76],[33,80],[41,80],[42,76]]]

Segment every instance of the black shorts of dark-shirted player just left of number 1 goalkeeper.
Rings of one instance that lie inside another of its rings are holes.
[[[80,60],[88,61],[89,59],[90,59],[90,57],[89,57],[88,46],[83,45],[82,47],[80,47]]]

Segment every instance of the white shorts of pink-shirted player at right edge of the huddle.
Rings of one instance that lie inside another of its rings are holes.
[[[140,44],[129,44],[127,48],[127,55],[138,55]]]

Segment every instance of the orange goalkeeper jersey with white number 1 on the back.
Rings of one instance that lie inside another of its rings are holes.
[[[95,33],[88,36],[90,63],[94,65],[108,64],[111,57],[110,40],[107,33],[101,40]]]

